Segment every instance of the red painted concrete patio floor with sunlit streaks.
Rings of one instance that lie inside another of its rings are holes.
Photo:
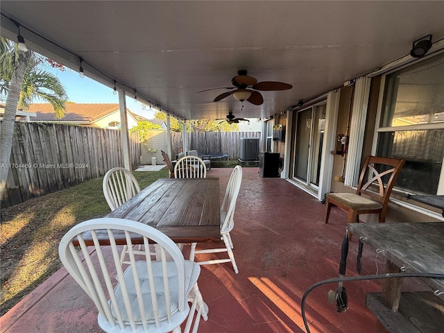
[[[221,196],[231,170],[207,173],[220,178]],[[339,276],[346,214],[334,207],[325,224],[325,206],[313,196],[287,180],[260,178],[257,168],[243,171],[232,231],[239,274],[230,263],[202,266],[198,284],[210,311],[199,332],[306,332],[301,298],[311,284]],[[346,276],[357,275],[357,245],[357,239],[350,242]],[[364,246],[361,273],[375,274],[377,266],[384,271],[375,249]],[[336,311],[336,302],[327,302],[327,292],[337,287],[325,284],[309,293],[305,309],[310,331],[376,332],[377,321],[365,298],[380,290],[380,282],[346,283],[349,309],[342,313]],[[62,268],[8,311],[0,327],[8,333],[101,332],[96,318],[92,300]]]

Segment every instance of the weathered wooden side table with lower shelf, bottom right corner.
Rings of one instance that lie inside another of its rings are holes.
[[[386,258],[386,273],[444,274],[444,223],[351,223],[348,230]],[[425,279],[429,291],[402,292],[402,278],[384,279],[382,292],[367,295],[377,332],[436,333],[444,327],[444,281]]]

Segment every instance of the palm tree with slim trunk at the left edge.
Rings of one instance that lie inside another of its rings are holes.
[[[26,110],[33,99],[53,105],[56,117],[63,117],[67,94],[56,76],[42,71],[42,57],[33,51],[19,51],[6,38],[0,40],[0,94],[6,96],[0,125],[0,199],[6,189],[17,108]]]

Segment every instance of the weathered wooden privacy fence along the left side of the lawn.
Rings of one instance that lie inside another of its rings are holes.
[[[139,164],[137,133],[130,133],[133,167]],[[24,202],[123,167],[121,131],[17,121],[10,171],[1,207]]]

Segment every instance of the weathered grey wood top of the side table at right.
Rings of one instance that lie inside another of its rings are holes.
[[[350,223],[348,230],[399,267],[416,273],[444,274],[444,223]],[[444,280],[425,279],[444,291]]]

